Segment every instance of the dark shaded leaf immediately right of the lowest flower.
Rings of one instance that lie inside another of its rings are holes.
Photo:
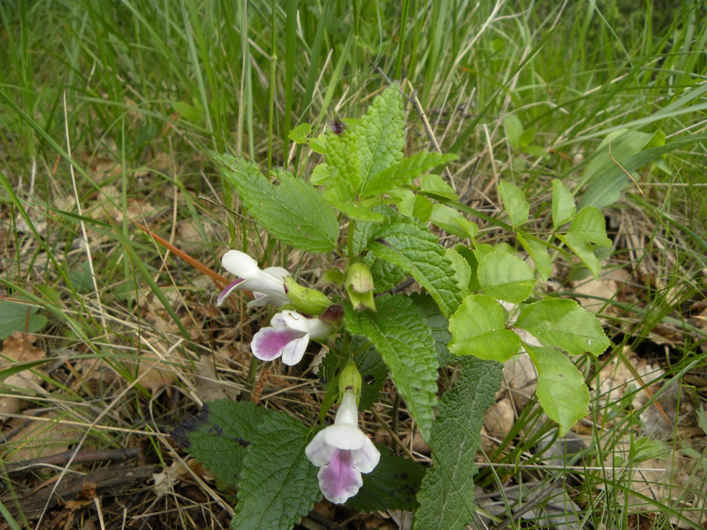
[[[363,473],[361,490],[346,501],[346,506],[357,512],[414,510],[425,468],[414,460],[392,454],[385,445],[375,444],[375,447],[380,451],[378,466],[370,473]]]

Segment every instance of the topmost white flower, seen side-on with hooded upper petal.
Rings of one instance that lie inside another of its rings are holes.
[[[223,300],[234,290],[247,290],[253,293],[255,298],[248,302],[248,307],[265,304],[279,307],[290,302],[285,294],[284,278],[290,276],[286,269],[268,267],[262,270],[255,259],[240,250],[229,250],[223,254],[221,264],[228,272],[238,276],[238,279],[221,291],[216,300],[217,307],[223,304]]]

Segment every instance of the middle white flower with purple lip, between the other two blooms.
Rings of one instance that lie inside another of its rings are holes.
[[[302,360],[312,338],[324,338],[334,331],[316,317],[306,317],[296,311],[282,311],[272,317],[270,326],[261,328],[250,343],[250,349],[260,360],[274,360],[282,356],[286,365]]]

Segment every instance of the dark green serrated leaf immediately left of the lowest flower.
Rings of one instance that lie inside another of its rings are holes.
[[[248,446],[230,522],[238,530],[291,530],[322,493],[305,456],[310,431],[283,412],[263,418]]]

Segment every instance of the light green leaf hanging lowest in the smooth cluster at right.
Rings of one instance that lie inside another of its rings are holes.
[[[537,370],[537,399],[548,418],[560,425],[560,436],[589,413],[584,376],[565,354],[554,348],[525,346]]]

